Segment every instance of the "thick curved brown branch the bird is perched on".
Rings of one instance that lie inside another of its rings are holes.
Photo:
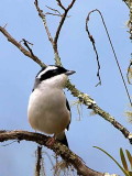
[[[105,176],[105,174],[96,172],[85,165],[79,156],[68,150],[65,145],[59,142],[55,142],[51,147],[46,144],[50,136],[44,134],[28,132],[28,131],[0,131],[0,142],[6,142],[9,140],[18,140],[20,141],[31,141],[35,142],[40,145],[46,146],[55,152],[57,155],[62,156],[62,158],[72,164],[76,169],[78,175],[82,176]]]

